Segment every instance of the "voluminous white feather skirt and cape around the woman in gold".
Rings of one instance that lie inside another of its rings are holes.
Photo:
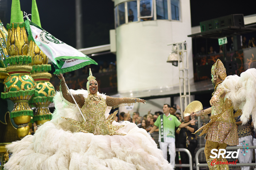
[[[87,91],[78,90],[72,93]],[[100,94],[106,98],[105,95]],[[61,101],[60,92],[54,97],[52,120],[45,122],[34,136],[28,135],[7,146],[13,152],[4,169],[15,170],[168,170],[172,165],[164,159],[147,131],[124,121],[117,132],[125,136],[74,133],[76,128],[61,116],[82,120],[77,107]],[[108,116],[108,113],[105,114]],[[121,125],[113,122],[114,125]]]

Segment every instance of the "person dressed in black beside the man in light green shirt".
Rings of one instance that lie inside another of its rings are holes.
[[[184,123],[188,123],[190,122],[191,117],[190,116],[186,116],[184,117],[184,122],[182,122],[181,124]],[[195,149],[197,146],[197,139],[194,133],[197,130],[197,126],[195,123],[190,123],[187,126],[183,127],[183,128],[178,128],[176,130],[176,133],[179,135],[178,136],[178,148],[186,148],[188,149],[188,151],[191,153],[192,155],[192,161],[194,161],[194,157],[195,157]],[[180,152],[180,158],[181,158],[181,163],[182,164],[189,164],[189,159],[188,159],[188,154],[186,154],[185,152]],[[189,168],[182,168],[182,170],[189,170]]]

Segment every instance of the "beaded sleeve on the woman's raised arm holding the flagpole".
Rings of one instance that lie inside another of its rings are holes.
[[[68,89],[65,85],[65,79],[64,77],[60,80],[60,95],[62,100],[67,103],[68,105],[74,106],[75,101],[72,99],[71,94],[69,94]],[[74,99],[76,100],[76,103],[80,108],[84,106],[84,96],[83,94],[73,94]]]

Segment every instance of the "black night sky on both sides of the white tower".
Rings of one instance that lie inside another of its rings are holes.
[[[20,0],[21,10],[31,13],[31,0]],[[229,14],[244,16],[256,13],[256,1],[191,0],[192,26],[199,22]],[[246,3],[245,3],[246,2]],[[7,0],[4,26],[10,22],[11,0]],[[37,0],[42,28],[61,41],[76,47],[75,0]],[[114,29],[114,2],[82,0],[83,48],[109,44],[109,30]]]

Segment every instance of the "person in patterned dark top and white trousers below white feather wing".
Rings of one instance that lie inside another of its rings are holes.
[[[237,117],[236,125],[238,126],[238,142],[237,146],[245,146],[244,149],[240,149],[238,153],[239,163],[252,163],[252,149],[246,149],[247,146],[253,146],[252,143],[252,117],[250,120],[242,125],[240,120],[241,116]],[[241,170],[250,170],[250,166],[242,166]]]

